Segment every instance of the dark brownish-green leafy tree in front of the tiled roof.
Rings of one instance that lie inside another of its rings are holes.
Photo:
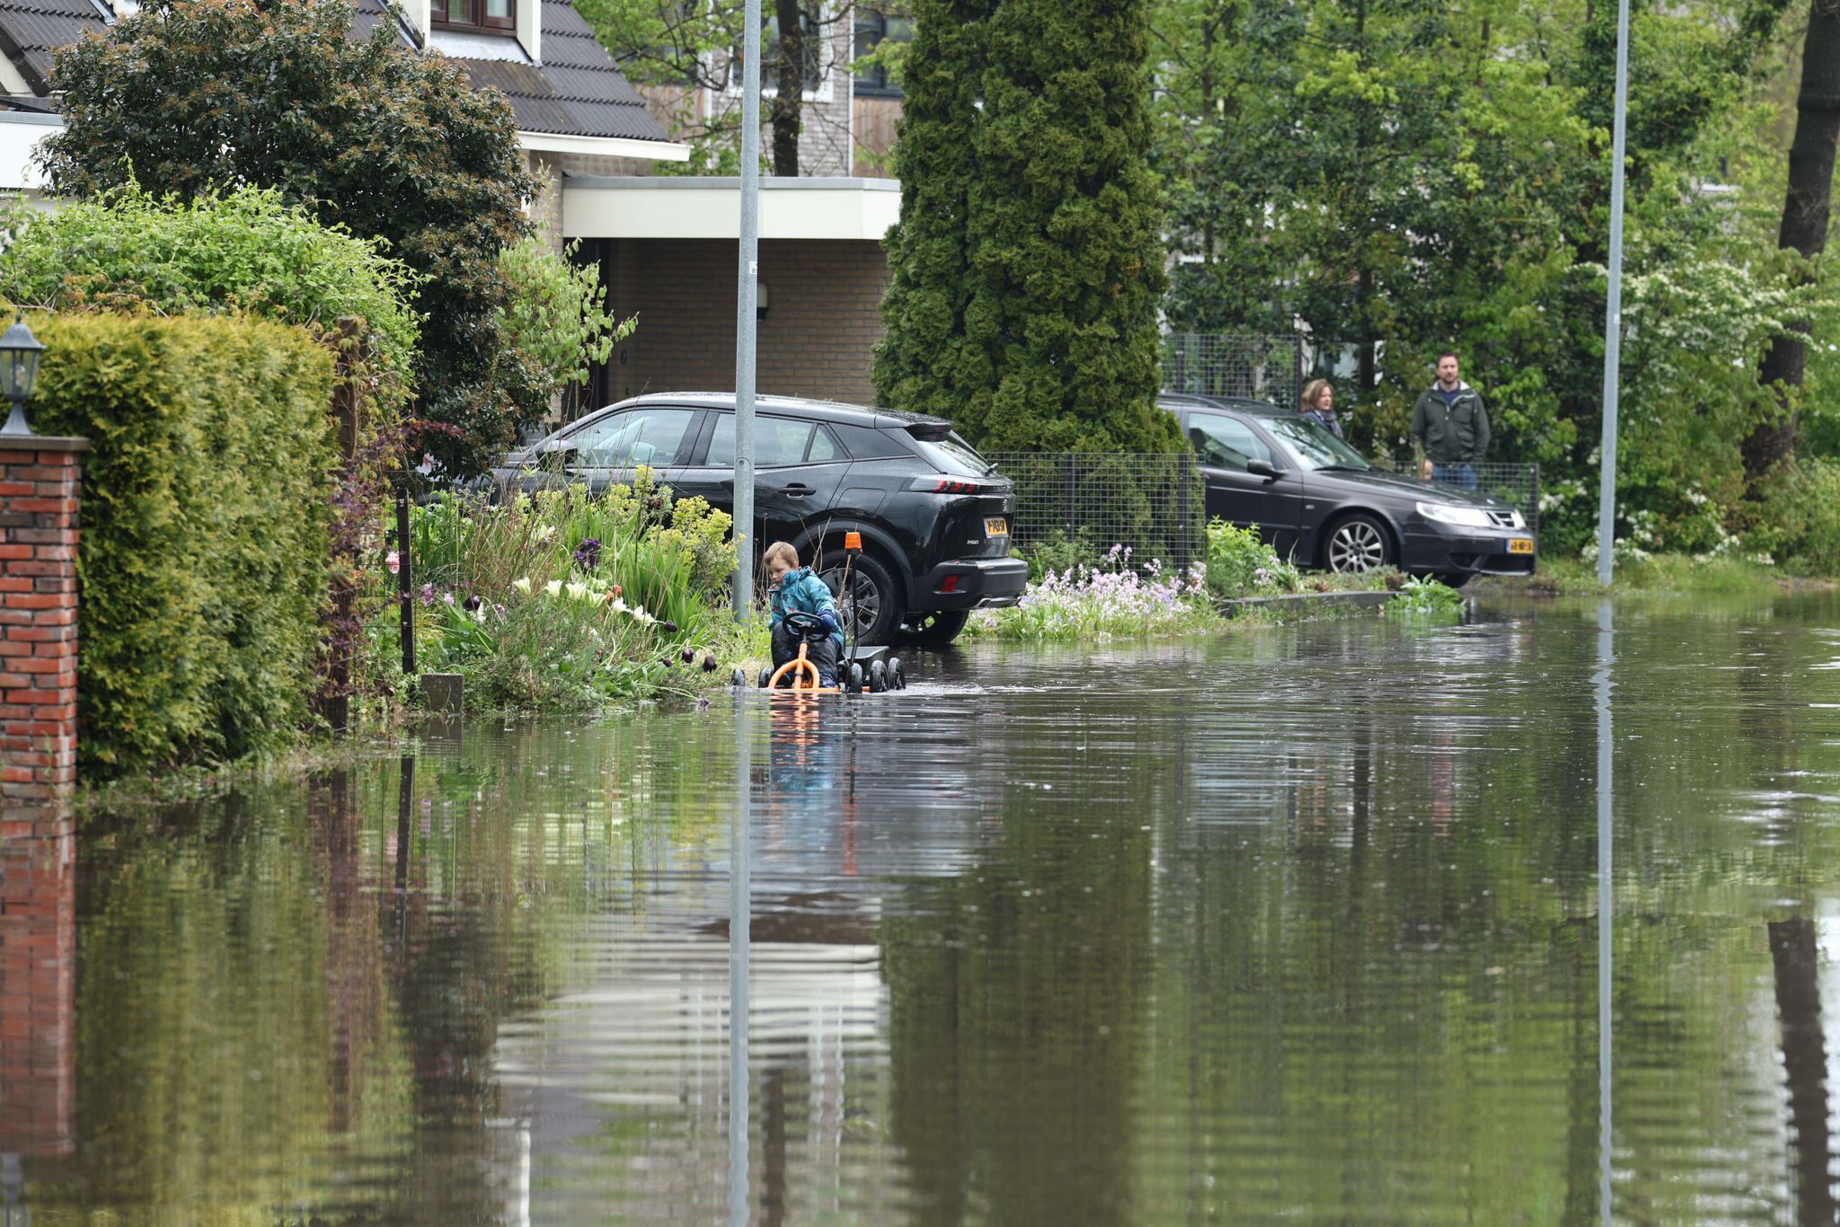
[[[537,193],[512,110],[390,22],[350,37],[346,0],[158,0],[66,48],[53,83],[64,131],[44,171],[63,197],[138,182],[193,199],[243,182],[379,237],[423,280],[421,412],[458,429],[429,447],[466,471],[546,397],[500,364],[499,252],[528,234]]]

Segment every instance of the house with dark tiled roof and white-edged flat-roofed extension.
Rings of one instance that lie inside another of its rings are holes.
[[[107,31],[136,0],[0,0],[0,189],[42,189],[33,149],[61,127],[59,48]],[[558,241],[600,265],[609,302],[638,331],[581,399],[734,386],[740,199],[734,178],[657,177],[684,162],[646,99],[569,0],[355,0],[353,35],[379,24],[405,46],[466,66],[504,94],[517,140],[548,189],[532,202]],[[848,48],[826,97],[850,107]],[[821,86],[821,92],[826,86]],[[845,164],[846,166],[846,160]],[[760,392],[867,401],[887,285],[881,235],[900,212],[889,178],[765,178],[760,208]],[[574,408],[574,407],[570,407]]]

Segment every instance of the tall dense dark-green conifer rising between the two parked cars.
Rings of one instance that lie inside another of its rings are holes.
[[[972,440],[1174,451],[1141,2],[914,6],[876,394]]]

